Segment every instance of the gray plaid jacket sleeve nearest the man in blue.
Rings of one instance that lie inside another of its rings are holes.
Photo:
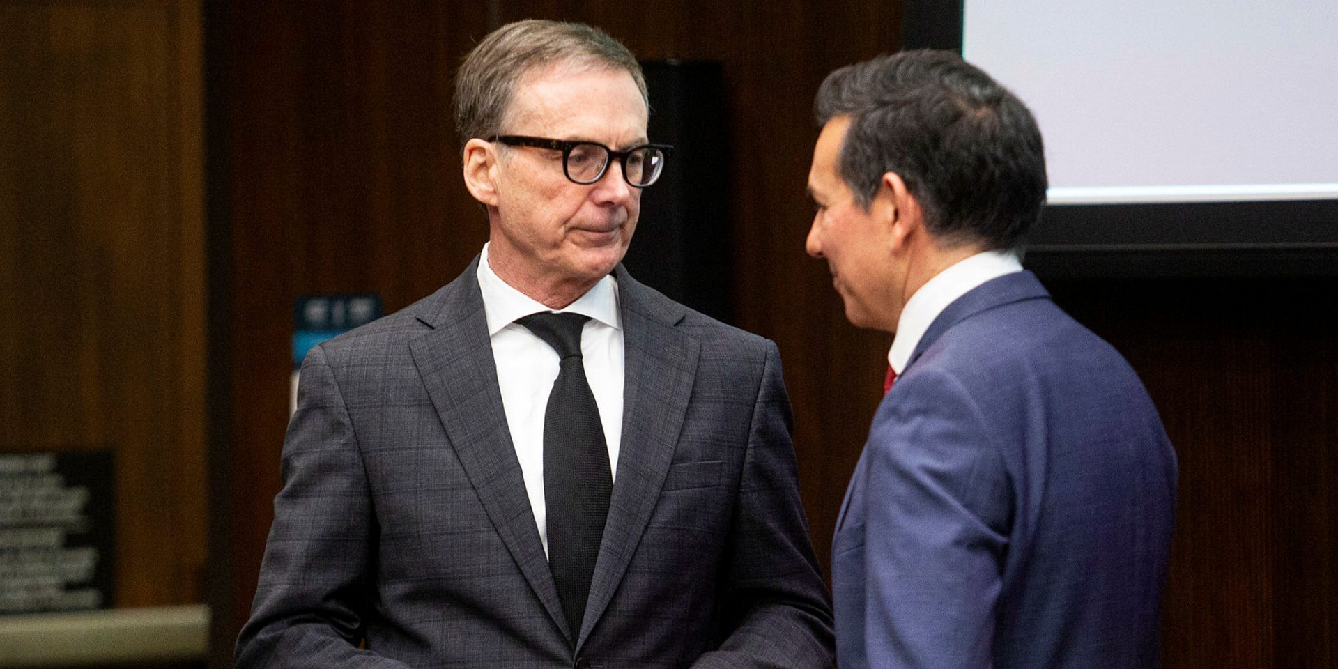
[[[721,582],[733,626],[694,668],[832,666],[831,597],[799,498],[791,428],[780,353],[767,341]]]

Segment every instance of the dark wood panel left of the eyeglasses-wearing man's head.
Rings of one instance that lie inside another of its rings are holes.
[[[387,310],[455,277],[487,240],[460,179],[455,64],[487,32],[454,3],[235,1],[210,15],[215,142],[226,187],[211,214],[227,253],[230,610],[245,621],[288,421],[293,300],[371,292]]]

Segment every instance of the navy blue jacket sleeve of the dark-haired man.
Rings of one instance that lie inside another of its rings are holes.
[[[974,399],[942,372],[879,408],[866,468],[870,666],[986,669],[1010,484]]]

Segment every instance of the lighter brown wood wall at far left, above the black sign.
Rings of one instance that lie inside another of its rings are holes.
[[[112,448],[118,605],[203,601],[195,1],[0,4],[0,451]]]

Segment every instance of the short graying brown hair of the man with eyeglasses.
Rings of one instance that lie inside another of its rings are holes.
[[[637,58],[603,31],[542,19],[508,23],[483,37],[455,75],[455,130],[460,147],[472,138],[504,132],[502,124],[515,84],[531,70],[555,63],[626,70],[641,99],[649,100]]]

